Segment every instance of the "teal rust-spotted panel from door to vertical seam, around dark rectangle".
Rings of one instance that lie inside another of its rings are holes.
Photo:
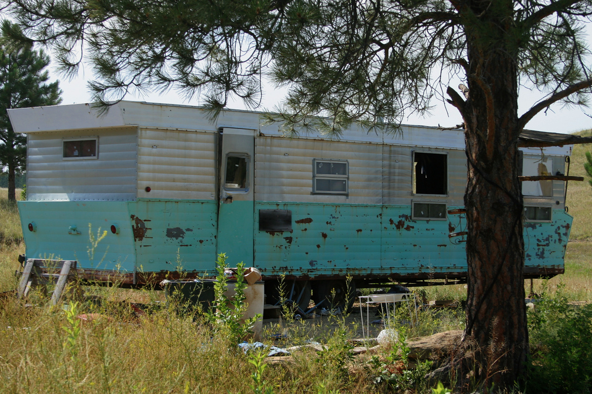
[[[261,202],[255,208],[292,211],[291,232],[255,231],[255,265],[263,275],[381,271],[381,206]]]

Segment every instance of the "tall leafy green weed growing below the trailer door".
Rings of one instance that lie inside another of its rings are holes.
[[[244,302],[244,289],[247,288],[247,283],[244,281],[244,263],[237,264],[236,271],[236,285],[234,287],[235,294],[233,297],[227,297],[228,281],[224,270],[228,268],[226,264],[226,254],[220,253],[216,261],[216,281],[214,284],[214,311],[210,311],[208,317],[210,321],[217,327],[217,333],[226,334],[231,341],[237,341],[252,334],[253,325],[261,318],[260,314],[255,317],[243,320],[243,313],[247,310],[248,305]]]

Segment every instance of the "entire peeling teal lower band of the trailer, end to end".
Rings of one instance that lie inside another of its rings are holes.
[[[409,206],[234,201],[222,204],[219,227],[213,200],[20,201],[18,207],[28,258],[73,259],[84,268],[159,272],[181,266],[213,274],[216,253],[224,252],[231,265],[243,261],[264,275],[466,271],[465,244],[448,238],[464,230],[458,216],[411,220]],[[292,232],[259,231],[260,209],[291,210]],[[527,267],[563,266],[571,221],[554,210],[551,223],[525,223]],[[30,222],[36,232],[28,231]],[[109,231],[114,223],[118,235]],[[70,226],[81,234],[68,234]],[[107,230],[94,256],[89,228],[95,236]]]

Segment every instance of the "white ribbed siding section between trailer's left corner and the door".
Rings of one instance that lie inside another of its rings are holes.
[[[213,200],[215,139],[213,132],[140,128],[138,197]]]

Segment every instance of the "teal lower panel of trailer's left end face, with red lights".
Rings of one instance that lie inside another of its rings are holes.
[[[27,258],[76,260],[85,268],[133,272],[136,253],[127,204],[126,201],[19,201]],[[37,224],[36,232],[28,230],[30,222]],[[120,227],[117,235],[110,231],[114,223]],[[76,226],[81,234],[68,234],[70,226]],[[96,237],[105,230],[107,235],[91,256],[89,231]]]

